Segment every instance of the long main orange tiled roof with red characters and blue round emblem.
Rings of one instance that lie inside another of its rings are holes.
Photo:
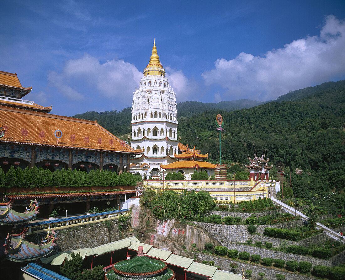
[[[141,154],[112,135],[97,121],[51,115],[0,106],[1,125],[6,128],[0,142],[74,149]],[[60,138],[56,138],[55,133]]]

